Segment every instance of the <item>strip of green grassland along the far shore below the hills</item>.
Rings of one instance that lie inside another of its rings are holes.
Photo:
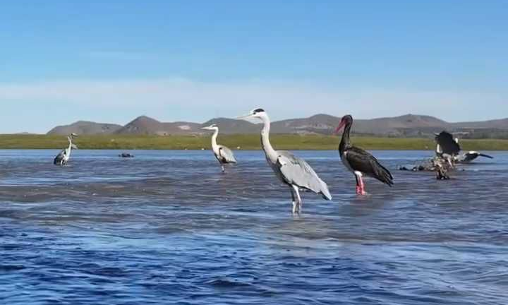
[[[272,145],[281,150],[334,150],[339,145],[338,136],[284,135],[271,136]],[[351,141],[368,150],[433,150],[433,139],[425,138],[373,138],[353,137]],[[75,138],[80,149],[160,149],[160,150],[200,150],[210,148],[209,136],[80,136]],[[219,143],[242,150],[260,149],[259,135],[223,135]],[[45,135],[0,135],[0,149],[60,149],[67,145],[65,136]],[[508,140],[461,140],[464,150],[508,150]]]

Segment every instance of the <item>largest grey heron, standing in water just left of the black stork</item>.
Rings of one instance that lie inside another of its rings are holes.
[[[314,169],[305,160],[296,157],[285,150],[274,150],[270,143],[270,118],[263,109],[255,109],[246,116],[239,116],[237,119],[256,118],[263,123],[261,131],[261,145],[265,150],[265,157],[268,165],[279,179],[289,186],[291,191],[293,214],[301,213],[302,200],[300,188],[308,189],[314,193],[322,194],[327,200],[332,200],[327,184],[317,176]]]

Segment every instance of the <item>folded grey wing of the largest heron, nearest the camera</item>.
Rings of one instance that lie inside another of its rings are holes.
[[[327,200],[332,199],[325,181],[317,176],[314,169],[305,160],[285,150],[277,150],[277,155],[277,166],[286,182],[315,193],[321,193],[323,198]]]

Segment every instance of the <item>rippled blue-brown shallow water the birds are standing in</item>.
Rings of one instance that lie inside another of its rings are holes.
[[[260,151],[220,172],[209,151],[0,150],[2,304],[508,304],[508,154],[449,181],[390,189],[336,151],[296,152],[327,181],[290,193]]]

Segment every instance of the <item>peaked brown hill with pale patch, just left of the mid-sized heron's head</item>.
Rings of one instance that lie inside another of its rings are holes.
[[[162,123],[148,116],[139,116],[115,133],[119,134],[169,134],[195,133],[200,131],[201,124],[190,122]]]

